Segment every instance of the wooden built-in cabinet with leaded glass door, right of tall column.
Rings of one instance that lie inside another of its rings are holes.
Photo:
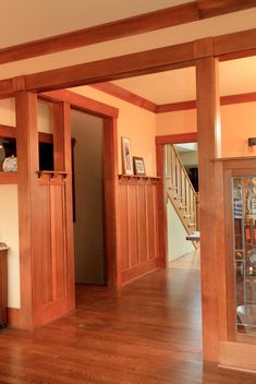
[[[219,362],[256,371],[256,158],[215,172]]]

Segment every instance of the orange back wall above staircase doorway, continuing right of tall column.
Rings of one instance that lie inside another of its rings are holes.
[[[256,136],[256,103],[221,106],[222,157],[256,156],[247,139]],[[196,132],[196,110],[157,115],[157,135]]]

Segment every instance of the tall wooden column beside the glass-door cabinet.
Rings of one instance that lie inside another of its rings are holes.
[[[215,165],[219,134],[218,61],[196,61],[197,127],[200,193],[200,254],[203,297],[203,353],[218,361],[218,280],[216,249]]]

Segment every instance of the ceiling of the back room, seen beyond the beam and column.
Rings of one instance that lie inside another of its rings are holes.
[[[220,95],[256,92],[256,56],[220,62]],[[155,73],[113,83],[157,105],[194,100],[195,68]]]

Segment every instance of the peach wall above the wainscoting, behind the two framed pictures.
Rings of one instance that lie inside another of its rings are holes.
[[[122,173],[121,137],[125,136],[131,140],[132,156],[143,157],[147,175],[156,176],[156,115],[89,86],[71,91],[119,108],[119,173]]]

